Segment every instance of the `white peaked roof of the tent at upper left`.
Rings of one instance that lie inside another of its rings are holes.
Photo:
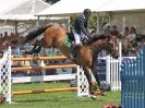
[[[50,4],[43,0],[1,0],[0,20],[36,20],[36,13]]]

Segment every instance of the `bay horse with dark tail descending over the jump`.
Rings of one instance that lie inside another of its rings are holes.
[[[41,46],[45,48],[58,48],[64,56],[70,58],[70,51],[71,46],[69,45],[69,38],[67,31],[60,26],[59,24],[53,24],[45,27],[40,27],[32,33],[29,33],[26,38],[24,39],[24,43],[27,43],[40,34],[44,33],[43,39],[41,39]],[[76,64],[81,65],[84,70],[84,73],[87,77],[88,84],[89,84],[89,94],[94,95],[96,94],[95,86],[96,84],[93,82],[90,72],[94,74],[97,85],[101,89],[100,81],[98,79],[96,70],[96,59],[98,57],[98,53],[105,49],[108,53],[110,53],[113,58],[118,58],[118,51],[113,44],[106,40],[106,38],[93,38],[87,45],[81,45],[78,47],[78,50],[75,52],[75,59],[73,60]]]

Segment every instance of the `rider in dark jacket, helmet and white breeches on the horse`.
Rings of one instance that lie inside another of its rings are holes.
[[[74,20],[74,29],[72,31],[74,34],[74,44],[71,48],[71,58],[73,58],[73,51],[75,49],[75,46],[80,45],[81,41],[85,41],[90,38],[90,34],[87,29],[87,22],[90,17],[90,14],[92,11],[89,9],[85,9],[83,14]]]

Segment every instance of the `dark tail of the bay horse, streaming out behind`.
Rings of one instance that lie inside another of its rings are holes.
[[[50,25],[49,25],[49,26],[50,26]],[[43,34],[43,33],[47,29],[47,27],[49,27],[49,26],[39,27],[39,28],[37,28],[36,31],[31,32],[28,35],[26,35],[26,37],[25,37],[23,44],[25,44],[25,43],[27,43],[27,41],[29,41],[29,40],[36,38],[36,37],[39,36],[40,34]]]

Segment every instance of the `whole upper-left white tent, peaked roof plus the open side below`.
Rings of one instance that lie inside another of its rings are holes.
[[[49,5],[43,0],[0,0],[0,31],[5,31],[5,25],[12,25],[15,33],[35,28],[35,14]]]

